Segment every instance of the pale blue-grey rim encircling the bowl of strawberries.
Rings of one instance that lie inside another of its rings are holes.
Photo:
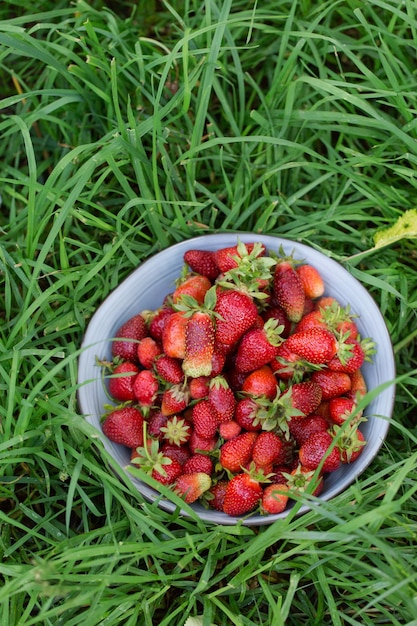
[[[86,401],[87,385],[89,382],[97,381],[97,378],[94,380],[88,380],[88,379],[85,380],[83,373],[85,369],[88,368],[86,364],[86,359],[91,358],[91,351],[95,346],[102,344],[103,342],[108,343],[109,341],[108,337],[92,341],[92,336],[94,335],[95,324],[100,321],[101,316],[105,314],[105,311],[107,310],[109,305],[112,304],[113,300],[117,299],[118,290],[126,289],[130,283],[134,283],[138,275],[142,274],[143,272],[146,272],[149,266],[152,267],[155,263],[157,263],[158,259],[162,258],[161,255],[174,254],[175,256],[178,255],[178,258],[180,258],[180,255],[181,254],[183,255],[183,253],[187,249],[201,247],[202,244],[204,245],[208,244],[209,247],[207,247],[207,249],[214,250],[219,247],[234,245],[235,243],[237,243],[238,240],[241,240],[244,243],[248,243],[249,241],[260,241],[266,245],[268,250],[271,250],[273,243],[274,245],[276,245],[277,249],[279,249],[279,246],[281,245],[286,246],[287,248],[292,248],[292,250],[297,253],[296,256],[297,257],[300,256],[301,258],[303,258],[303,255],[301,254],[303,252],[305,253],[307,257],[313,256],[317,259],[322,259],[324,257],[326,259],[326,263],[329,263],[331,265],[333,264],[334,267],[338,268],[338,271],[342,271],[342,273],[346,273],[346,275],[350,277],[349,280],[354,281],[355,287],[362,291],[362,294],[364,295],[364,297],[366,297],[368,299],[368,302],[370,302],[371,305],[373,306],[374,314],[378,316],[381,327],[384,328],[385,330],[386,345],[384,346],[384,348],[388,350],[388,354],[386,354],[386,358],[387,358],[387,366],[390,371],[390,375],[386,379],[386,381],[381,383],[381,385],[387,385],[384,391],[385,396],[386,396],[387,415],[371,416],[371,419],[377,419],[378,421],[381,422],[379,441],[373,442],[373,447],[372,447],[373,454],[370,458],[364,457],[364,460],[361,462],[361,458],[363,456],[361,455],[355,461],[355,470],[354,471],[351,470],[351,478],[348,484],[341,484],[340,487],[338,487],[337,485],[334,485],[332,489],[330,490],[330,492],[323,492],[323,494],[321,494],[318,497],[318,500],[328,501],[330,499],[333,499],[335,496],[345,491],[367,469],[367,467],[372,463],[375,456],[378,454],[380,448],[382,447],[386,439],[386,436],[388,434],[389,427],[390,427],[390,421],[392,418],[392,412],[393,412],[394,402],[395,402],[395,392],[396,392],[396,385],[395,385],[396,368],[395,368],[395,357],[394,357],[394,350],[393,350],[391,337],[389,335],[383,315],[381,311],[379,310],[379,307],[377,306],[373,296],[368,292],[368,290],[364,287],[364,285],[357,278],[355,278],[341,263],[333,259],[331,256],[327,256],[324,252],[317,250],[316,248],[310,245],[306,245],[304,243],[301,243],[301,242],[298,242],[289,238],[281,237],[278,235],[264,235],[262,233],[255,234],[255,233],[251,233],[247,231],[245,232],[235,231],[235,232],[227,232],[227,233],[204,234],[204,235],[199,235],[199,236],[192,237],[189,239],[185,239],[183,241],[173,244],[172,246],[164,248],[163,250],[159,252],[155,252],[150,257],[145,259],[137,268],[135,268],[132,272],[130,272],[117,285],[117,287],[112,289],[107,294],[107,296],[101,301],[100,305],[91,316],[87,324],[87,327],[85,329],[84,335],[82,337],[81,349],[80,349],[80,354],[78,358],[78,374],[77,374],[77,401],[78,401],[80,412],[84,416],[84,418],[90,423],[90,425],[96,428],[97,432],[100,435],[100,439],[103,442],[107,452],[112,457],[112,462],[110,463],[110,469],[113,471],[115,475],[119,477],[119,479],[125,479],[125,480],[128,480],[130,483],[133,483],[136,489],[141,493],[141,495],[147,501],[154,502],[157,500],[158,506],[161,509],[169,513],[174,513],[175,511],[178,510],[177,504],[171,500],[161,497],[161,494],[159,492],[157,492],[153,488],[146,485],[143,481],[140,481],[134,476],[132,476],[132,474],[115,459],[114,449],[115,449],[115,446],[117,446],[117,444],[114,444],[113,442],[111,442],[105,437],[104,433],[96,424],[97,420],[95,419],[95,416],[91,415],[90,413],[88,413],[88,411],[85,410],[88,406],[88,402]],[[232,243],[230,243],[231,241]],[[213,245],[211,245],[211,243]],[[313,261],[310,261],[310,262],[314,264]],[[140,311],[138,310],[138,312]],[[126,319],[128,319],[128,317],[130,317],[130,315],[128,315]],[[350,468],[352,467],[353,465],[350,466]],[[260,513],[255,512],[252,514],[248,514],[247,516],[240,516],[240,517],[228,516],[225,513],[216,511],[214,509],[205,509],[201,504],[198,504],[198,503],[191,505],[191,508],[206,523],[220,524],[220,525],[235,525],[238,523],[242,523],[248,526],[260,526],[260,525],[265,525],[265,524],[271,524],[278,519],[285,518],[289,514],[293,506],[294,506],[294,503],[291,503],[285,509],[283,513],[279,513],[275,515],[262,515]],[[297,511],[297,515],[301,515],[303,513],[308,512],[309,510],[312,509],[312,506],[313,505],[310,503],[301,505]],[[181,510],[181,514],[189,516],[189,513],[186,510]]]

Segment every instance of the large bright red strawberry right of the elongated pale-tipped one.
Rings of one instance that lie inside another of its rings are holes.
[[[235,289],[217,291],[215,343],[226,351],[237,344],[258,318],[251,296]]]

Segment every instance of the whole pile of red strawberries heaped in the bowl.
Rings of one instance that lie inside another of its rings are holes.
[[[324,294],[316,267],[260,242],[188,250],[162,306],[124,323],[100,362],[104,434],[187,503],[230,516],[319,494],[366,444],[374,351]]]

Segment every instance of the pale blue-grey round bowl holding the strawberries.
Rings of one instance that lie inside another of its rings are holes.
[[[375,301],[347,270],[333,259],[328,258],[313,248],[295,241],[252,233],[225,233],[204,235],[175,244],[154,255],[134,270],[99,306],[90,320],[82,342],[82,351],[78,362],[78,400],[85,418],[100,432],[104,445],[114,460],[116,473],[125,473],[137,489],[148,500],[160,498],[159,506],[167,511],[174,511],[176,505],[148,485],[132,477],[125,469],[129,464],[130,451],[124,446],[112,443],[101,431],[100,417],[103,405],[108,404],[108,397],[103,389],[100,368],[96,365],[96,356],[111,357],[110,338],[130,317],[146,309],[156,309],[162,304],[166,294],[172,292],[174,281],[183,267],[183,255],[186,250],[199,248],[215,250],[235,245],[240,239],[247,243],[262,241],[265,246],[278,252],[280,246],[286,254],[294,253],[296,259],[304,260],[316,266],[326,284],[326,295],[335,297],[343,306],[350,305],[350,310],[359,315],[356,320],[362,337],[371,337],[376,344],[376,354],[372,363],[366,363],[362,372],[368,391],[382,386],[380,393],[367,406],[367,421],[361,426],[367,445],[360,457],[351,465],[344,464],[332,472],[325,480],[321,500],[330,500],[344,491],[368,467],[378,453],[389,429],[395,396],[395,362],[391,339],[385,321]],[[200,504],[193,504],[193,509],[207,522],[217,524],[236,524],[239,518],[230,517],[216,510],[206,509]],[[299,512],[305,512],[308,506],[302,506]],[[253,514],[243,520],[247,525],[270,524],[278,518],[288,515],[289,509],[278,515]]]

